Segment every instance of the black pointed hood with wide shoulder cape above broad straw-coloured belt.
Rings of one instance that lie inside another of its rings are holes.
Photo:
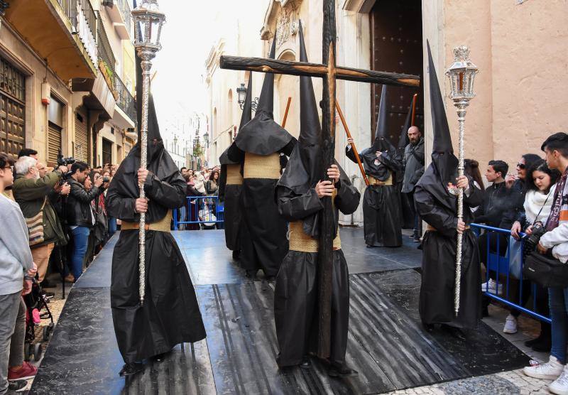
[[[274,38],[270,58],[275,58],[275,54],[276,43]],[[256,153],[256,155],[270,155],[280,151],[294,139],[288,131],[285,131],[274,121],[273,107],[274,75],[266,73],[256,114],[236,135],[235,144],[240,151]]]

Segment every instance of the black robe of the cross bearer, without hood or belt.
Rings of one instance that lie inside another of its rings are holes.
[[[287,170],[288,171],[288,170]],[[279,185],[276,190],[278,210],[288,221],[309,220],[317,224],[323,204],[315,188],[302,195]],[[339,232],[339,210],[349,215],[359,206],[361,196],[342,171],[334,199],[335,228]],[[304,224],[304,228],[306,224]],[[278,277],[274,295],[274,319],[280,355],[280,367],[300,364],[308,352],[317,352],[317,252],[288,251]],[[349,271],[343,251],[333,252],[332,317],[330,362],[343,364],[349,323]]]

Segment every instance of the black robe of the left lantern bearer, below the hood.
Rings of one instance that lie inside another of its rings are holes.
[[[112,217],[139,222],[134,212],[138,197],[138,148],[124,159],[107,192]],[[185,202],[185,180],[165,151],[150,163],[144,189],[150,200],[146,223],[158,222],[168,210]],[[178,244],[169,232],[146,231],[146,298],[138,296],[138,230],[120,232],[114,247],[111,309],[116,341],[125,362],[168,352],[182,342],[204,339],[199,305]]]

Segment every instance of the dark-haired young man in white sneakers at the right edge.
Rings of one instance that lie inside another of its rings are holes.
[[[568,261],[568,134],[552,134],[542,144],[549,168],[562,173],[558,180],[550,216],[545,224],[545,234],[540,237],[537,250],[540,254],[554,256],[563,264]],[[540,229],[539,229],[540,230]],[[537,228],[531,229],[535,235]],[[540,232],[542,233],[542,232]],[[523,372],[537,379],[555,379],[549,386],[553,394],[568,393],[568,367],[566,347],[568,343],[568,288],[549,288],[550,317],[552,318],[552,349],[545,364],[525,367]]]

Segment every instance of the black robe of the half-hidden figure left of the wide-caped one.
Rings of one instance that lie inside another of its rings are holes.
[[[227,183],[227,172],[240,173],[240,164],[226,164],[221,166],[219,180],[219,200],[223,202],[223,225],[225,230],[226,248],[231,251],[241,249],[240,230],[242,226],[241,192],[242,184]]]

